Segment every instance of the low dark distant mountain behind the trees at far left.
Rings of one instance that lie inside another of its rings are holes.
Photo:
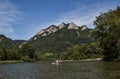
[[[0,48],[13,48],[14,46],[19,46],[21,45],[25,40],[12,40],[8,37],[6,37],[3,34],[0,34]]]

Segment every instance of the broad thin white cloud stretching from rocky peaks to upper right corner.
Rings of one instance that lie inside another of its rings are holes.
[[[95,17],[100,14],[100,12],[106,12],[109,9],[115,9],[120,1],[115,2],[100,2],[100,3],[94,3],[91,5],[81,4],[77,3],[76,8],[74,10],[65,11],[63,13],[60,13],[56,21],[47,23],[49,24],[60,24],[61,22],[69,23],[74,22],[77,25],[87,25],[90,28],[93,28],[93,21],[95,20]]]

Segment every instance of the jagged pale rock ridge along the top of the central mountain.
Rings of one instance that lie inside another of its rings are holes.
[[[83,25],[83,26],[78,26],[76,25],[75,23],[71,22],[71,23],[64,23],[62,22],[60,25],[50,25],[49,27],[47,27],[46,29],[43,29],[41,31],[39,31],[35,36],[47,36],[51,33],[54,33],[60,29],[63,29],[63,28],[67,28],[67,29],[81,29],[82,31],[85,30],[85,29],[88,29],[88,27],[86,25]],[[34,39],[36,40],[37,38],[36,37],[32,37],[31,39]],[[29,39],[29,40],[31,40]]]

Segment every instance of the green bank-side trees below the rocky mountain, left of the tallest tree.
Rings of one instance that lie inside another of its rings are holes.
[[[103,50],[98,46],[98,43],[75,45],[67,48],[61,55],[47,52],[41,56],[41,60],[81,60],[88,58],[103,57]]]

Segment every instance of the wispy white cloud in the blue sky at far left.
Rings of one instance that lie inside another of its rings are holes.
[[[21,14],[10,0],[0,0],[0,33],[8,36],[15,34],[13,24]]]

